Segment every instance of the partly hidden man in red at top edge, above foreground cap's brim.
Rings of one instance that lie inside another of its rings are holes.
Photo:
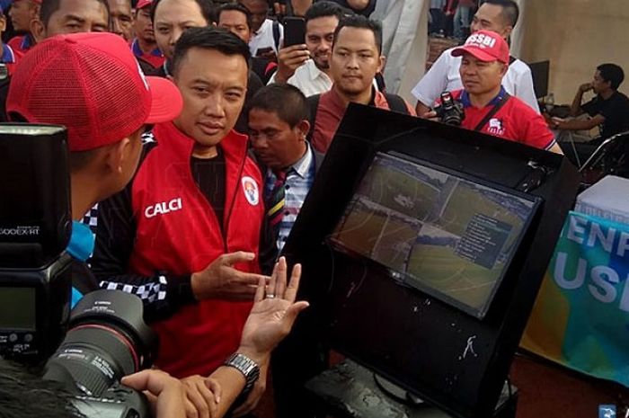
[[[164,65],[164,54],[157,48],[155,31],[151,21],[151,4],[153,0],[139,0],[136,5],[136,18],[133,29],[136,38],[131,42],[131,49],[138,60],[142,60],[151,67],[159,68]],[[145,71],[146,72],[146,71]]]

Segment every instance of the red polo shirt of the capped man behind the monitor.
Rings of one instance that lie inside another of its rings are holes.
[[[464,90],[453,92],[452,95],[463,104],[465,110],[465,120],[461,124],[462,128],[474,129],[476,125],[493,109],[497,103],[501,102],[506,94],[504,88],[485,107],[479,109],[472,105],[470,97]],[[527,103],[522,102],[518,97],[510,96],[499,111],[487,121],[481,132],[494,137],[509,139],[510,141],[521,142],[529,147],[540,149],[550,149],[554,146],[554,135],[544,117],[531,109]]]

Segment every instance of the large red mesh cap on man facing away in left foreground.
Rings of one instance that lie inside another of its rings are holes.
[[[38,42],[15,66],[6,99],[10,119],[65,125],[70,151],[114,144],[182,106],[173,83],[144,76],[127,42],[103,32]]]

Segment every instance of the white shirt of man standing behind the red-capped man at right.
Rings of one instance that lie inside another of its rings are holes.
[[[452,92],[463,88],[458,72],[461,57],[452,57],[452,49],[445,50],[412,89],[412,95],[427,106],[432,106],[443,91]],[[516,59],[509,65],[507,74],[502,78],[502,86],[507,93],[518,97],[539,113],[531,69],[524,62]]]

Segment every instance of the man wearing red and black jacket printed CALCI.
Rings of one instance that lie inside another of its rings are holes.
[[[184,32],[172,62],[183,111],[155,125],[127,190],[99,208],[93,271],[160,319],[156,364],[178,378],[207,376],[235,351],[263,278],[261,173],[233,130],[248,58],[233,33]]]

